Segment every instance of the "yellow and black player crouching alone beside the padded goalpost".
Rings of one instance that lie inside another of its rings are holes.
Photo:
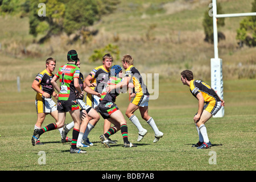
[[[184,70],[180,75],[183,85],[189,86],[190,92],[199,101],[199,109],[193,118],[199,134],[199,142],[193,147],[208,148],[212,143],[209,141],[204,124],[225,105],[225,101],[208,84],[201,80],[194,80],[192,71]],[[206,103],[205,106],[204,103]]]

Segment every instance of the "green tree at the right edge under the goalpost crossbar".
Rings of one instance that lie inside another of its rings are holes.
[[[252,3],[251,12],[256,12],[256,0]],[[256,16],[248,16],[240,22],[237,37],[240,47],[245,43],[247,46],[256,46]]]

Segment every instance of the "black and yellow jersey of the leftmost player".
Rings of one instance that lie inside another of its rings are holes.
[[[51,84],[51,80],[53,78],[53,74],[50,74],[47,72],[46,69],[44,71],[38,73],[36,75],[35,80],[40,83],[40,89],[43,90],[43,92],[47,92],[48,94],[52,95],[53,86]],[[36,98],[42,97],[42,94],[36,93]]]

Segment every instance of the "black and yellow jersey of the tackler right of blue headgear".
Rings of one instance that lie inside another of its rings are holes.
[[[136,95],[150,95],[147,91],[147,86],[144,84],[141,73],[139,73],[138,69],[133,65],[130,65],[130,67],[126,69],[125,76],[131,77],[131,81],[133,81],[134,84],[133,92],[136,93]]]

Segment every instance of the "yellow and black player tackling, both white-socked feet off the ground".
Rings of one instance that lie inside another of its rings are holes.
[[[141,141],[144,135],[147,134],[147,130],[144,129],[139,122],[139,119],[134,115],[134,112],[139,109],[142,118],[152,127],[155,133],[154,143],[158,142],[159,138],[163,137],[163,133],[159,131],[158,127],[155,124],[155,121],[150,115],[148,115],[148,101],[150,94],[148,93],[147,86],[144,84],[141,73],[133,65],[133,57],[130,55],[124,55],[122,58],[123,68],[126,69],[125,77],[122,82],[119,82],[117,85],[109,87],[109,90],[118,89],[123,86],[129,86],[129,83],[132,82],[134,85],[134,93],[131,94],[131,102],[127,107],[126,116],[130,119],[131,122],[137,127],[139,131],[139,136],[137,141]]]

